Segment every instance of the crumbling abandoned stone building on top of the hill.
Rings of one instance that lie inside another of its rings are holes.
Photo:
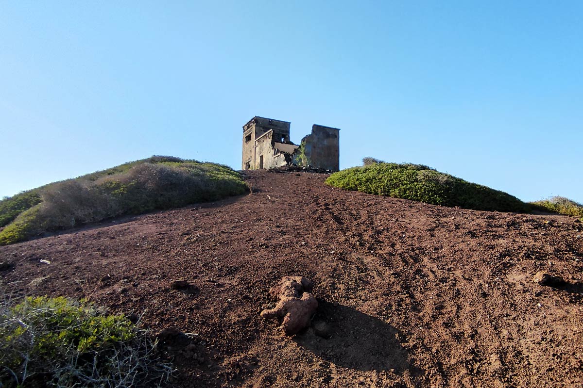
[[[243,126],[243,170],[268,169],[293,163],[300,147],[290,141],[290,122],[255,116]],[[305,156],[310,165],[339,170],[340,130],[314,124],[305,136]]]

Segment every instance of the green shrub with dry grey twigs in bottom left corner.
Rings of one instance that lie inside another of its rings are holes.
[[[145,330],[85,300],[0,304],[2,387],[160,387],[172,372]]]

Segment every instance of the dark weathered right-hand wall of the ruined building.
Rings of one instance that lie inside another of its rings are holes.
[[[314,124],[312,133],[302,139],[312,166],[326,170],[340,169],[340,130]]]

